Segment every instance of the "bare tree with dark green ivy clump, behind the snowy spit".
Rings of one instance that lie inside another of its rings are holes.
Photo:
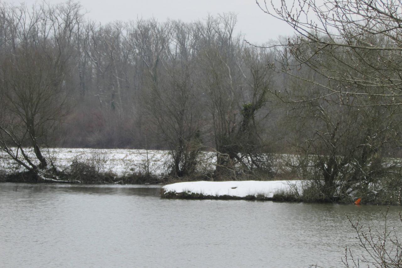
[[[210,17],[202,29],[200,66],[211,133],[217,152],[215,176],[236,179],[266,166],[258,123],[266,118],[271,70],[264,49],[245,45],[233,34],[234,14]],[[265,113],[265,114],[264,114]]]

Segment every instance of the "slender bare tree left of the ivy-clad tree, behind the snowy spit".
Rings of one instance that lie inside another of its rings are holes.
[[[202,109],[195,86],[195,35],[185,23],[175,21],[170,25],[165,28],[170,35],[168,39],[166,35],[160,35],[169,43],[163,45],[158,60],[144,62],[149,73],[143,99],[150,122],[168,145],[170,175],[183,177],[192,175],[196,170],[202,146]],[[152,39],[158,40],[155,35]],[[162,43],[162,40],[156,42]],[[141,58],[145,59],[145,55]]]

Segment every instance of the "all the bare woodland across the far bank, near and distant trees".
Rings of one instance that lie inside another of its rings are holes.
[[[2,3],[3,153],[55,172],[45,148],[166,149],[168,174],[191,177],[209,151],[209,179],[287,174],[324,199],[399,188],[400,2],[257,4],[295,35],[260,46],[235,14],[102,25],[74,2]]]

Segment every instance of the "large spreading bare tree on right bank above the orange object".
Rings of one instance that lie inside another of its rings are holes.
[[[369,185],[395,181],[400,173],[392,157],[401,138],[401,3],[257,4],[295,30],[287,41],[266,47],[278,55],[268,66],[295,82],[271,92],[295,111],[290,116],[302,132],[297,140],[305,156],[302,175],[314,177],[316,197],[332,200],[357,189],[368,196]]]

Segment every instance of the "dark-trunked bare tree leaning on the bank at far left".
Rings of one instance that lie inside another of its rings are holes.
[[[29,171],[54,171],[43,149],[68,112],[68,62],[81,7],[68,2],[2,8],[9,54],[1,56],[1,149]]]

